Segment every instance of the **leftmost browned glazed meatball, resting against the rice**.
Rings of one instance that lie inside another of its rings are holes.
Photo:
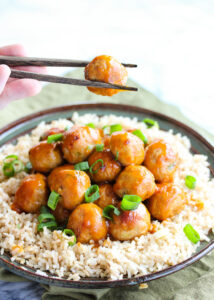
[[[17,212],[38,213],[48,199],[46,178],[42,174],[28,175],[15,194],[12,209]]]

